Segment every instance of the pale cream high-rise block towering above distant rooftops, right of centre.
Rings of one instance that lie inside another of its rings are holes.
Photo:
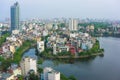
[[[76,31],[78,29],[78,21],[77,19],[70,19],[69,20],[69,30]]]

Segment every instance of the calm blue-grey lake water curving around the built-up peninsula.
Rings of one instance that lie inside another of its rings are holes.
[[[66,76],[74,75],[77,80],[120,80],[120,38],[99,38],[101,47],[105,49],[104,57],[97,56],[86,61],[59,63],[45,60],[41,67],[52,67]],[[25,55],[33,55],[30,49]]]

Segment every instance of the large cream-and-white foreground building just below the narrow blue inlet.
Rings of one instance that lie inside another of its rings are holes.
[[[34,70],[35,74],[37,73],[37,60],[31,57],[24,57],[20,66],[22,69],[22,75],[26,76],[30,70]]]

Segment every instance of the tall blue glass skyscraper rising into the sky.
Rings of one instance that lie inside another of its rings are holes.
[[[11,6],[11,28],[10,32],[15,29],[19,29],[19,4],[18,2],[14,3]]]

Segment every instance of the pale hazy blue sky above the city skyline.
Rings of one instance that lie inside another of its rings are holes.
[[[120,0],[0,0],[0,20],[10,18],[10,6],[18,1],[21,19],[106,18],[120,20]]]

